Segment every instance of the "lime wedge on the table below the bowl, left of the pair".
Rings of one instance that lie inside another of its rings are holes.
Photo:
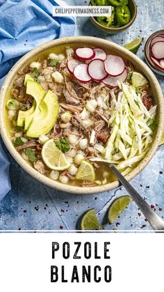
[[[81,230],[99,230],[95,209],[88,210],[81,219]]]

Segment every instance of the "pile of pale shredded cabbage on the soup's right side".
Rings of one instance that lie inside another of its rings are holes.
[[[141,95],[131,85],[122,83],[119,86],[121,91],[117,98],[115,92],[110,91],[110,137],[104,151],[92,161],[107,160],[117,164],[117,169],[126,175],[149,150],[153,131],[147,122],[150,118],[155,118],[156,106],[151,107],[148,112]]]

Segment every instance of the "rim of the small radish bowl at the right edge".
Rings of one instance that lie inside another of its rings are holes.
[[[160,33],[164,33],[164,29],[160,29],[159,31],[155,31],[155,33],[152,33],[151,36],[149,36],[149,38],[147,39],[146,43],[145,43],[145,58],[147,59],[147,63],[152,67],[152,70],[154,69],[154,71],[157,71],[157,74],[161,74],[163,73],[164,75],[164,70],[161,70],[160,68],[158,68],[157,66],[154,65],[154,63],[151,61],[150,56],[149,56],[149,46],[151,43],[151,40],[155,37],[158,36],[158,34]]]

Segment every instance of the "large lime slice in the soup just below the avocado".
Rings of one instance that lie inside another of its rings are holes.
[[[56,147],[54,139],[49,139],[44,143],[42,147],[42,159],[49,169],[60,171],[68,169],[70,166],[65,154]]]

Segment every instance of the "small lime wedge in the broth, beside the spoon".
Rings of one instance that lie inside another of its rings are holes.
[[[76,173],[76,179],[90,182],[95,181],[95,169],[90,162],[82,160]]]

